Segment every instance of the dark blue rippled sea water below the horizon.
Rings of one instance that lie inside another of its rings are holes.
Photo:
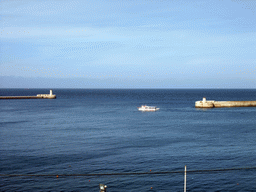
[[[0,89],[36,95],[48,89]],[[195,101],[256,100],[256,90],[55,89],[55,100],[0,100],[0,174],[88,174],[256,166],[256,108],[200,110]],[[157,112],[137,107],[155,105]],[[256,191],[256,170],[187,174],[187,191]],[[0,177],[0,191],[183,191],[183,173]],[[152,187],[152,189],[151,189]]]

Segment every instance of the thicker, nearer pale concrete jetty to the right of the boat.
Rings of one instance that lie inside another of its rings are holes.
[[[195,102],[196,108],[221,108],[221,107],[256,107],[256,101],[214,101],[206,100]]]

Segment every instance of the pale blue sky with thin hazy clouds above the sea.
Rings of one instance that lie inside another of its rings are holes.
[[[256,88],[254,0],[0,0],[0,88]]]

